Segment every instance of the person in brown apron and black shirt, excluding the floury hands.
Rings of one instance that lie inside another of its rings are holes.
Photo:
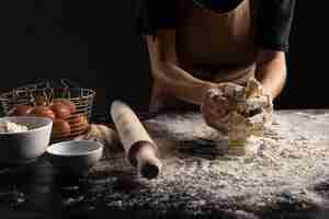
[[[295,0],[140,0],[151,112],[200,106],[224,82],[256,78],[274,100],[286,80]]]

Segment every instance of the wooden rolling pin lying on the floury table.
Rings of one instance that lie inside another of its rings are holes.
[[[133,110],[121,101],[114,101],[111,105],[111,116],[128,161],[144,177],[157,177],[162,166],[158,147]]]

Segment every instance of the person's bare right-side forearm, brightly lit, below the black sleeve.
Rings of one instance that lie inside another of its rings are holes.
[[[282,91],[286,80],[285,53],[261,49],[257,58],[256,78],[274,100]]]

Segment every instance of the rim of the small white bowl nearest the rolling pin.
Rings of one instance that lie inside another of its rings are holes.
[[[79,142],[88,142],[88,143],[93,143],[95,146],[98,146],[98,148],[89,150],[89,151],[83,151],[83,152],[77,152],[77,153],[54,153],[50,150],[54,148],[57,148],[59,146],[65,146],[65,145],[69,145],[69,143],[79,143]],[[56,157],[81,157],[81,155],[89,155],[89,154],[93,154],[93,153],[98,153],[103,151],[104,146],[99,142],[99,141],[92,141],[92,140],[66,140],[66,141],[60,141],[60,142],[56,142],[56,143],[52,143],[50,146],[47,147],[46,149],[46,153],[48,153],[49,155],[56,155]]]

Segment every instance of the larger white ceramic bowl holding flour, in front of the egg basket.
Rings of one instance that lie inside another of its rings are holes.
[[[27,126],[27,131],[0,132],[0,164],[16,165],[31,162],[41,157],[49,146],[53,120],[34,116],[1,117],[1,122],[11,122]]]

